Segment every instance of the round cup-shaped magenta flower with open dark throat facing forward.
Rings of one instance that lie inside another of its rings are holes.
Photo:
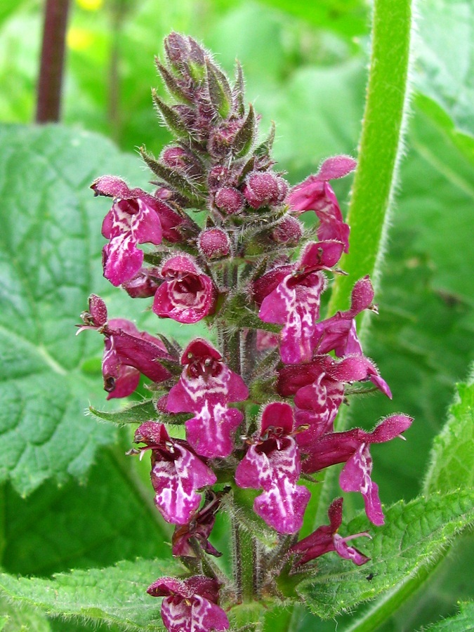
[[[154,295],[153,311],[162,318],[193,323],[212,314],[217,291],[211,277],[189,255],[170,257],[162,265],[164,283]]]

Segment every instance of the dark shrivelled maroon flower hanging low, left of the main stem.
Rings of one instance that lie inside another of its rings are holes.
[[[220,498],[224,492],[213,492],[209,489],[206,492],[204,507],[200,509],[187,525],[175,527],[173,533],[173,555],[185,555],[188,558],[195,558],[196,553],[190,540],[194,538],[203,551],[209,555],[219,558],[222,553],[216,550],[209,542],[209,536],[216,522],[216,512],[220,505]]]

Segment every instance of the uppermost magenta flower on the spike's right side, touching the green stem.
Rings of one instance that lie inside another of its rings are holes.
[[[318,239],[337,239],[343,242],[344,252],[349,251],[349,226],[344,223],[336,195],[328,180],[343,178],[356,166],[355,160],[348,156],[329,158],[323,162],[315,176],[310,176],[293,187],[288,197],[291,211],[315,211],[320,220],[317,228]]]

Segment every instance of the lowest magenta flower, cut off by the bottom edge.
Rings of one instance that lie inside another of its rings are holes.
[[[161,577],[147,589],[152,597],[164,597],[162,619],[168,632],[228,630],[227,614],[217,605],[218,591],[218,582],[202,575]]]

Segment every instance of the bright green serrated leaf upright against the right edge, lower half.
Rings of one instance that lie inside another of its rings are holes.
[[[456,386],[448,420],[435,438],[425,492],[474,487],[474,374]]]

